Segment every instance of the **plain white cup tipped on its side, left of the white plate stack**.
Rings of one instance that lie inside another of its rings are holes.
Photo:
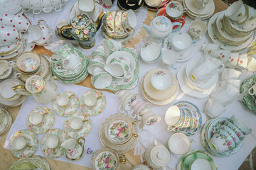
[[[176,60],[176,52],[174,52],[173,50],[168,50],[166,48],[163,48],[161,50],[161,64],[163,64],[166,67],[177,69]]]

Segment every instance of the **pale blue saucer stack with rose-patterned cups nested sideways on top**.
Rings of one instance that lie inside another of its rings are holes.
[[[217,157],[229,157],[242,147],[242,140],[251,130],[233,115],[229,118],[213,118],[201,131],[203,147]]]

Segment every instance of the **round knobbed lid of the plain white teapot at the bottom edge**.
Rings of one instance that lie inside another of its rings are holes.
[[[150,152],[152,162],[156,166],[166,166],[170,160],[170,153],[164,146],[156,146]]]

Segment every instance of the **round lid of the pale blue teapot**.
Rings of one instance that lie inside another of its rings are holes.
[[[169,18],[166,18],[165,16],[156,16],[156,18],[154,18],[152,22],[154,28],[161,32],[172,29],[171,21],[169,20]]]

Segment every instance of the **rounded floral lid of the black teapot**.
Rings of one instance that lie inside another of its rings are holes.
[[[71,24],[74,28],[87,28],[90,24],[93,24],[92,18],[87,16],[86,14],[79,14],[78,16],[74,16]],[[94,24],[95,25],[95,24]],[[95,26],[96,27],[96,26]]]

